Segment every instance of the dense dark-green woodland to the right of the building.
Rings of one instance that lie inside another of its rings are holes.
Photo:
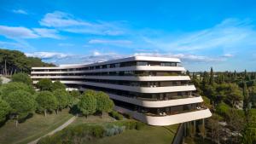
[[[212,111],[207,134],[213,143],[256,143],[256,72],[187,72]],[[202,135],[204,134],[204,135]],[[192,136],[193,137],[193,136]]]

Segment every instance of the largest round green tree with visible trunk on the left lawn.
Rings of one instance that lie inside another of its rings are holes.
[[[5,97],[4,100],[7,101],[11,107],[10,113],[15,116],[16,126],[19,119],[26,118],[36,107],[36,101],[32,94],[24,90],[16,90]]]

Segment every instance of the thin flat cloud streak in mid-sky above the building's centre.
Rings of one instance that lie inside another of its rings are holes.
[[[131,44],[132,42],[129,40],[91,39],[88,43],[90,43],[90,44],[122,45],[122,44]]]

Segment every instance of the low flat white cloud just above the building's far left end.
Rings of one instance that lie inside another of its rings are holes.
[[[39,57],[41,59],[64,59],[71,55],[55,52],[34,52],[26,53],[26,56]]]

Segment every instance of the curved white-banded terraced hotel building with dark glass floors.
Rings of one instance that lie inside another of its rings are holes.
[[[179,124],[212,116],[176,58],[133,56],[89,65],[32,67],[31,78],[60,80],[67,89],[108,93],[115,110],[150,125]]]

